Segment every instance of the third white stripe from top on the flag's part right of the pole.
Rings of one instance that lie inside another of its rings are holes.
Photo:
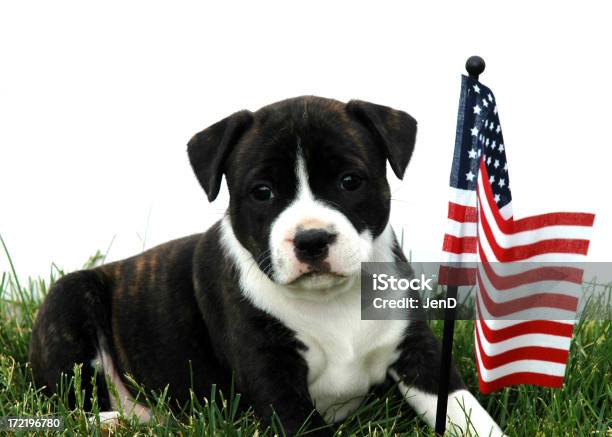
[[[495,303],[509,302],[514,299],[533,296],[535,294],[564,294],[566,296],[575,297],[576,299],[580,298],[582,295],[582,284],[574,284],[569,281],[538,281],[514,288],[498,290],[489,280],[482,263],[478,263],[478,271],[482,279],[483,287],[487,290],[487,294]]]

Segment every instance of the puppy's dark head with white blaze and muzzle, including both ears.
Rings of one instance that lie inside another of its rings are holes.
[[[416,121],[386,106],[298,97],[240,111],[188,145],[213,201],[225,174],[233,232],[258,268],[292,289],[355,276],[389,220],[386,162],[402,178]]]

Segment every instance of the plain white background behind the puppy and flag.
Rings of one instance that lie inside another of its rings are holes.
[[[216,3],[2,4],[0,234],[22,275],[78,268],[113,238],[108,256],[119,259],[203,231],[227,194],[207,203],[188,165],[191,135],[302,94],[417,118],[405,180],[389,172],[392,221],[413,259],[438,260],[472,54],[499,102],[515,217],[595,212],[590,259],[612,261],[605,6]]]

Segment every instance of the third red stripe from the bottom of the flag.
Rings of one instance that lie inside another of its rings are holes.
[[[528,334],[548,334],[571,338],[574,331],[574,325],[552,320],[529,320],[506,328],[491,329],[489,325],[487,325],[486,320],[482,318],[479,299],[476,299],[476,311],[478,313],[478,320],[480,320],[482,333],[489,343],[498,343]]]

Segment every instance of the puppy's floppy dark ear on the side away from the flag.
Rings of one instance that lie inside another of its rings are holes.
[[[219,194],[225,160],[252,123],[252,112],[236,112],[195,134],[187,144],[189,162],[209,202]]]

